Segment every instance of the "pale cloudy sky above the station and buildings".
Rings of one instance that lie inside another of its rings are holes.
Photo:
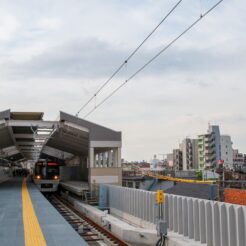
[[[0,111],[76,114],[177,2],[0,0]],[[215,3],[183,0],[79,116]],[[246,153],[245,13],[224,0],[86,119],[122,131],[128,161],[170,153],[208,123]]]

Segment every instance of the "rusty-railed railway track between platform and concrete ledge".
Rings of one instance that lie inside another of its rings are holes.
[[[128,246],[110,231],[97,224],[83,213],[73,207],[71,203],[58,195],[51,195],[50,203],[67,220],[67,222],[78,232],[78,234],[88,243],[88,245],[109,245]]]

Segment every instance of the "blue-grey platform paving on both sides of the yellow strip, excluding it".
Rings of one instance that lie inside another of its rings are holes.
[[[28,183],[28,191],[46,245],[88,245],[34,184]],[[22,208],[22,180],[11,179],[0,184],[0,245],[25,245]]]

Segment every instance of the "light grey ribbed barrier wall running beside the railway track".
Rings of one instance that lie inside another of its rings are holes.
[[[157,222],[155,192],[107,188],[110,209]],[[163,210],[170,231],[208,246],[246,245],[246,206],[166,194]]]

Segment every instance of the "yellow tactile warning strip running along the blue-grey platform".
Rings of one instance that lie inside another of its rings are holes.
[[[46,246],[25,179],[22,182],[22,207],[25,246]]]

